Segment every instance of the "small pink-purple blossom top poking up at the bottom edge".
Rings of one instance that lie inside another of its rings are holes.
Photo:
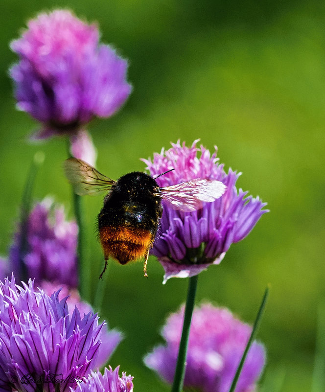
[[[125,372],[122,373],[122,377],[118,375],[119,366],[112,370],[105,368],[104,375],[99,371],[88,377],[86,382],[79,383],[77,388],[70,392],[132,392],[133,391],[133,377],[131,375],[126,375]]]

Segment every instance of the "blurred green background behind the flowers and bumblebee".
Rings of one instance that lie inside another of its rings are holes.
[[[97,21],[102,41],[129,59],[134,91],[111,119],[90,124],[97,167],[112,178],[143,170],[148,158],[178,138],[219,149],[220,161],[243,174],[238,186],[268,202],[242,242],[199,277],[197,301],[229,307],[253,323],[268,283],[271,295],[258,339],[268,351],[261,390],[310,391],[317,309],[325,294],[325,6],[322,1],[268,0],[2,0],[0,13],[0,253],[7,253],[23,185],[35,152],[46,154],[34,195],[64,203],[66,141],[29,145],[37,126],[17,112],[8,43],[41,10],[68,7]],[[102,268],[94,235],[101,198],[84,198],[93,301]],[[187,281],[162,285],[163,268],[112,262],[101,315],[125,334],[111,365],[135,376],[135,391],[168,391],[142,363],[161,342],[168,313],[186,297]],[[279,388],[278,388],[279,387]],[[278,389],[277,389],[278,388]],[[316,392],[314,390],[314,392]]]

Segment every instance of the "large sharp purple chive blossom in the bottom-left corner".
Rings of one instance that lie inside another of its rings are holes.
[[[0,281],[0,391],[70,391],[93,369],[103,324],[58,295]]]

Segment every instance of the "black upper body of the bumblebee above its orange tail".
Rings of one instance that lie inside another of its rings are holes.
[[[163,208],[159,186],[148,174],[132,172],[119,178],[104,199],[98,228],[133,227],[156,234]]]

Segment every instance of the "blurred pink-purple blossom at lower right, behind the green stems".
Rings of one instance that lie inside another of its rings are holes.
[[[167,319],[165,346],[147,354],[145,364],[168,383],[173,382],[184,306]],[[202,392],[228,392],[252,328],[226,308],[196,307],[189,333],[184,386]],[[237,382],[236,392],[253,392],[265,364],[263,345],[253,342]]]

